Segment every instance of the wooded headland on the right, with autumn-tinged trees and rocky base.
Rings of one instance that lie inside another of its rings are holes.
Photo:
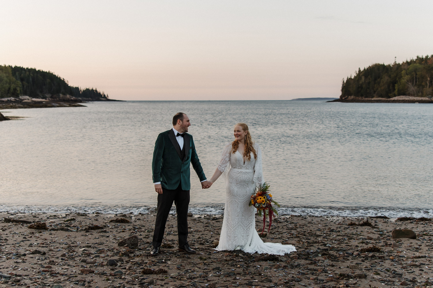
[[[339,102],[433,103],[433,55],[373,64],[343,79]]]

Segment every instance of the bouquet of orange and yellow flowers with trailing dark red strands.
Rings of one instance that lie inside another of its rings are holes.
[[[272,200],[272,195],[269,193],[269,185],[266,182],[255,187],[255,192],[251,195],[249,206],[257,208],[259,216],[263,215],[263,229],[261,234],[265,231],[266,216],[269,216],[269,232],[269,230],[271,230],[272,216],[275,216],[275,214],[278,215],[277,210],[272,207],[272,203],[280,207],[277,202]]]

